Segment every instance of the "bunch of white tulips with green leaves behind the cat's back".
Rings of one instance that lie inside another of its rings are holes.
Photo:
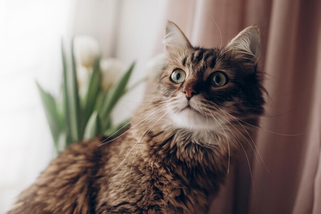
[[[97,41],[85,36],[72,41],[70,54],[62,43],[62,61],[60,96],[37,83],[56,152],[97,135],[121,132],[128,120],[114,126],[110,113],[119,98],[141,82],[127,87],[135,64],[123,72],[118,60],[102,60]]]

